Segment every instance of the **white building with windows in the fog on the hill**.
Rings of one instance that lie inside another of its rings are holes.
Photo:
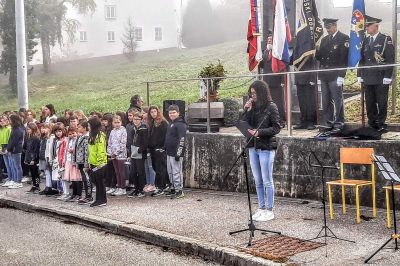
[[[129,18],[135,26],[137,51],[178,47],[182,14],[181,0],[96,0],[94,13],[80,14],[69,8],[67,17],[76,19],[79,28],[75,41],[52,48],[52,61],[74,60],[118,55],[123,53],[121,39]],[[32,64],[42,63],[41,48],[37,48]]]

